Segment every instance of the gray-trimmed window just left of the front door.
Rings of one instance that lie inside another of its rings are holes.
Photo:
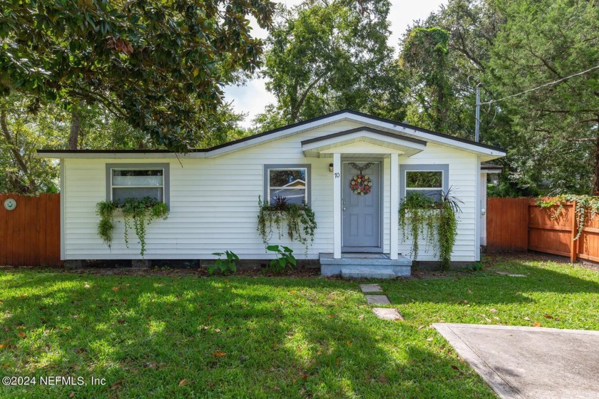
[[[272,204],[285,197],[289,204],[309,204],[309,165],[265,165],[265,198]]]

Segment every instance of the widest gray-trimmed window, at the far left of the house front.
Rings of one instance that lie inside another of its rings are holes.
[[[107,164],[106,199],[152,197],[168,204],[168,164]]]

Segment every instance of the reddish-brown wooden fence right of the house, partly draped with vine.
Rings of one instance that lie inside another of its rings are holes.
[[[487,248],[493,251],[538,251],[599,262],[599,215],[585,217],[580,237],[575,202],[540,208],[534,199],[487,199]]]

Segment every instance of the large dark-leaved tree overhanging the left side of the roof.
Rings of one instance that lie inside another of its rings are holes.
[[[186,151],[209,134],[222,86],[253,71],[270,26],[268,0],[3,3],[0,91],[60,100],[75,117],[99,104],[155,145]]]

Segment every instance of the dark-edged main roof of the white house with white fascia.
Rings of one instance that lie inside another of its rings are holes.
[[[452,147],[458,147],[463,150],[469,150],[473,152],[482,152],[486,155],[491,155],[491,159],[496,157],[503,157],[506,155],[506,150],[493,145],[486,145],[481,142],[475,142],[473,140],[467,140],[464,138],[457,138],[444,133],[435,132],[424,128],[418,128],[416,126],[408,125],[406,123],[400,123],[395,120],[386,118],[379,118],[377,116],[368,115],[354,110],[339,110],[334,113],[322,115],[317,118],[303,120],[302,122],[293,123],[291,125],[283,126],[281,128],[268,130],[263,133],[251,135],[246,138],[240,138],[225,144],[215,145],[210,148],[198,148],[190,150],[190,155],[193,157],[215,157],[223,155],[227,152],[241,150],[245,147],[253,145],[260,145],[262,142],[270,140],[276,140],[278,138],[286,137],[287,135],[293,135],[304,130],[312,130],[314,128],[328,125],[330,123],[338,122],[339,120],[349,120],[355,123],[366,124],[362,129],[369,128],[367,125],[377,126],[377,131],[381,132],[382,128],[391,130],[390,135],[401,135],[401,138],[407,140],[413,138],[415,140],[423,141],[435,141],[441,142],[441,144],[451,145]],[[427,140],[428,139],[428,140]],[[176,155],[175,152],[170,150],[38,150],[38,154],[41,157],[81,157],[81,155],[87,155],[86,157],[103,157],[102,155],[112,155],[113,157],[126,157],[126,155],[133,155],[133,157],[166,157],[166,155]]]

